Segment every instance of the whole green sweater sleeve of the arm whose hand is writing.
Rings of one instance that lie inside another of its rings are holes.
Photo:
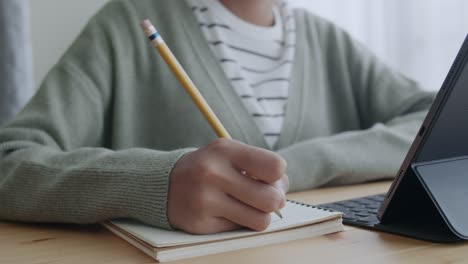
[[[190,149],[109,147],[118,47],[107,29],[125,30],[119,9],[113,2],[91,20],[25,109],[0,129],[1,219],[88,224],[134,218],[170,228],[170,172]]]

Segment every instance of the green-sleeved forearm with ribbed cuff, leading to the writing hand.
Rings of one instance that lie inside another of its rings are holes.
[[[169,175],[187,151],[62,152],[5,142],[0,144],[0,218],[88,224],[127,217],[170,228]]]

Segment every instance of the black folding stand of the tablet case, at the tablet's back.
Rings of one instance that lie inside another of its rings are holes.
[[[411,167],[375,228],[439,243],[468,239],[468,157]]]

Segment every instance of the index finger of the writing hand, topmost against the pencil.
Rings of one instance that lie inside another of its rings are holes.
[[[236,170],[246,171],[249,177],[271,184],[285,174],[286,162],[274,152],[234,140],[217,140],[213,144],[229,155]]]

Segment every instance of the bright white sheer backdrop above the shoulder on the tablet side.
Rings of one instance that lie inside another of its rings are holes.
[[[350,31],[394,68],[436,90],[468,33],[466,0],[292,0]]]

